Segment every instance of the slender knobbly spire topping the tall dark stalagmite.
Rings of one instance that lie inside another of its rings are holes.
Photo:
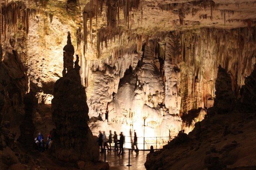
[[[63,48],[63,71],[62,71],[62,76],[65,76],[66,71],[70,71],[73,69],[74,65],[74,46],[72,45],[71,42],[71,37],[70,37],[70,32],[67,34],[67,45],[64,46]]]

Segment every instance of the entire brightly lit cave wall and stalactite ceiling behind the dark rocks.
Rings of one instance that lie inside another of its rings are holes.
[[[74,53],[81,56],[88,115],[100,120],[90,122],[93,132],[140,130],[143,136],[145,129],[151,136],[174,136],[192,130],[205,111],[190,126],[183,115],[214,105],[218,65],[239,97],[256,62],[253,2],[15,0],[1,4],[1,60],[18,51],[29,77],[25,84],[50,104],[70,31],[73,47],[70,54],[64,49],[64,68],[73,68]]]

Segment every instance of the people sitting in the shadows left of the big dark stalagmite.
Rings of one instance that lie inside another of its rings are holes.
[[[41,132],[38,133],[38,136],[35,138],[35,149],[40,152],[44,152],[51,148],[52,145],[52,136],[50,134],[47,135],[47,142],[44,142],[44,136]]]

